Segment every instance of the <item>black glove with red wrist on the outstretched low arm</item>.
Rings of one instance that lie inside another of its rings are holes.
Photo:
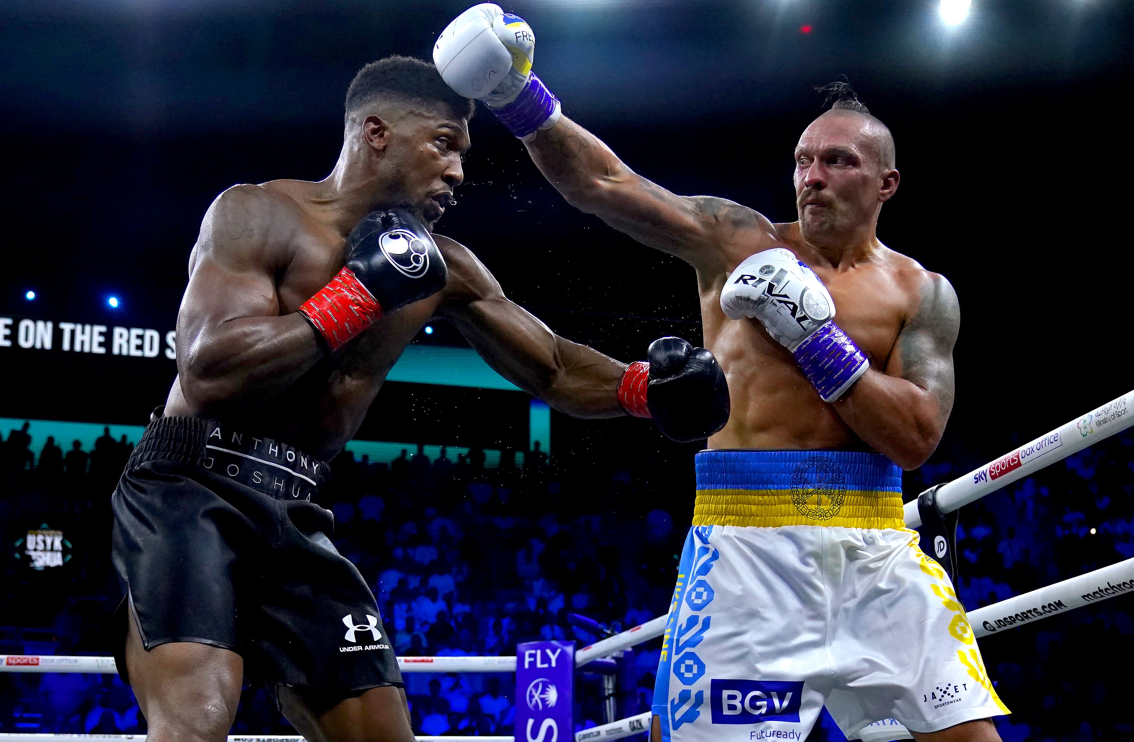
[[[725,427],[728,382],[716,356],[679,337],[650,344],[649,362],[635,361],[618,381],[618,403],[635,418],[652,418],[672,440],[708,438]]]

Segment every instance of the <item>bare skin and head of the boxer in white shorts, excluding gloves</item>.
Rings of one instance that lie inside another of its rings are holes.
[[[725,199],[670,193],[566,117],[527,143],[569,203],[696,270],[705,347],[725,369],[733,410],[710,448],[873,449],[912,470],[945,431],[954,402],[957,296],[943,276],[878,239],[882,204],[899,183],[895,145],[889,129],[855,103],[836,104],[799,137],[798,220],[789,224]],[[870,360],[832,404],[759,321],[730,320],[721,311],[731,271],[773,247],[787,247],[822,279],[839,324]],[[988,719],[913,734],[926,742],[999,740]],[[661,739],[657,716],[653,739]]]

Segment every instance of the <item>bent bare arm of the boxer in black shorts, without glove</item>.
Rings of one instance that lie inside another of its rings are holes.
[[[194,414],[272,397],[322,354],[303,315],[279,315],[276,275],[287,252],[276,208],[259,186],[237,186],[201,225],[177,318],[177,372]]]

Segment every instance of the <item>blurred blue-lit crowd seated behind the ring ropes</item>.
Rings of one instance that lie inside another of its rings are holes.
[[[10,625],[0,626],[0,652],[107,654],[119,596],[109,566],[108,496],[130,446],[109,431],[92,452],[73,445],[66,456],[56,441],[34,453],[28,441],[26,430],[14,430],[3,442],[3,538],[14,541],[19,529],[41,522],[64,528],[82,564],[33,574],[26,563],[7,560],[2,623]],[[982,463],[956,448],[932,462],[907,475],[907,499]],[[331,471],[320,498],[335,513],[335,543],[371,582],[399,655],[511,655],[517,642],[534,639],[583,646],[668,607],[692,492],[659,503],[657,473],[646,464],[611,462],[573,477],[541,452],[528,452],[523,466],[506,453],[499,466],[485,467],[477,449],[456,459],[442,449],[430,459],[418,447],[389,465],[342,454]],[[1134,556],[1134,436],[966,506],[957,538],[957,587],[968,609]],[[50,610],[37,623],[26,619],[34,612],[11,608],[35,596]],[[1005,742],[1134,737],[1122,710],[1134,683],[1110,665],[1134,640],[1131,607],[1129,597],[1115,598],[982,640],[997,690],[1015,711],[997,720]],[[650,707],[658,658],[655,640],[621,660],[619,716]],[[406,690],[421,734],[513,734],[509,674],[407,674]],[[578,685],[576,720],[579,728],[603,722],[593,678]],[[3,732],[113,734],[144,726],[117,676],[0,680]],[[253,686],[234,733],[294,732],[270,694]],[[826,715],[811,736],[841,739]]]

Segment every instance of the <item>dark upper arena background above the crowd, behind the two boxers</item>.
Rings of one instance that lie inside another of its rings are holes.
[[[171,327],[215,194],[325,176],[354,71],[393,52],[430,58],[435,33],[463,7],[3,3],[0,313]],[[946,275],[960,296],[945,449],[963,439],[997,455],[1012,436],[1031,438],[1129,388],[1120,361],[1128,3],[978,0],[954,29],[924,0],[507,9],[534,27],[535,68],[567,115],[632,167],[677,193],[727,196],[778,221],[795,217],[790,152],[821,110],[812,86],[848,76],[898,144],[903,185],[880,237]],[[483,109],[472,136],[459,205],[438,229],[471,246],[515,301],[626,361],[662,334],[700,338],[691,268],[566,205]],[[23,298],[28,288],[34,303]],[[105,307],[110,293],[122,298],[117,312]],[[428,342],[459,338],[439,326]],[[5,395],[0,415],[142,423],[172,364],[139,373],[127,363],[0,351],[5,388],[24,391]],[[414,394],[443,399],[412,423],[429,442],[467,445],[475,435],[457,436],[457,420],[472,430],[467,420],[491,410],[480,393],[398,385],[361,437],[391,439],[391,428],[411,424]],[[464,408],[468,400],[476,406]],[[555,427],[560,455],[629,446],[688,469],[685,448],[641,421],[556,415]]]

